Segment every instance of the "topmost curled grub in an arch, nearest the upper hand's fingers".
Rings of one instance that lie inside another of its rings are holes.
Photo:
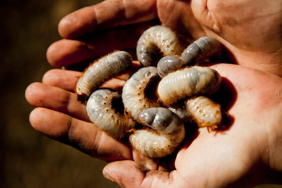
[[[137,59],[144,67],[153,65],[156,54],[180,55],[182,51],[183,48],[176,34],[161,25],[150,27],[144,31],[136,47]]]

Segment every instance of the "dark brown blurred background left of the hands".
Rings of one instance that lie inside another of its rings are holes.
[[[46,60],[60,19],[102,0],[1,1],[0,187],[119,187],[103,178],[107,164],[51,140],[29,123],[25,89],[54,67]]]

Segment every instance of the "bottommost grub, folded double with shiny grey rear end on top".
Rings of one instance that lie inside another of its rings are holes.
[[[175,152],[185,137],[182,120],[166,108],[149,108],[140,113],[141,123],[154,129],[136,130],[129,136],[133,148],[152,157],[165,157]]]

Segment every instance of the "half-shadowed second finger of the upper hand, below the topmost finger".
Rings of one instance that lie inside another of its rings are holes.
[[[143,22],[95,32],[80,40],[62,39],[51,44],[47,49],[47,60],[55,67],[61,67],[100,57],[114,50],[136,48],[137,41],[144,30],[155,24],[155,21]]]

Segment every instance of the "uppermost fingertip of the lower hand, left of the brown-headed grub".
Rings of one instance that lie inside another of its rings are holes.
[[[51,69],[44,74],[42,83],[74,92],[80,76],[81,72],[78,71]]]

